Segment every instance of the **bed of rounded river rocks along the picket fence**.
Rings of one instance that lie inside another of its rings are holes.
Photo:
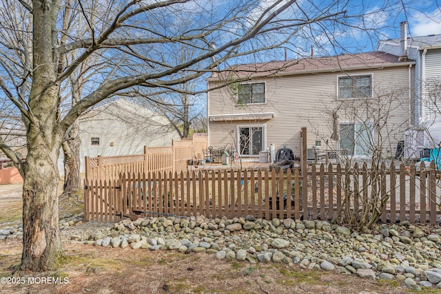
[[[371,280],[399,280],[406,286],[441,288],[441,228],[378,224],[350,231],[320,220],[271,221],[246,218],[139,218],[118,223],[82,222],[64,216],[61,238],[74,244],[138,250],[212,254],[240,262],[281,262]],[[3,228],[1,239],[20,228]]]

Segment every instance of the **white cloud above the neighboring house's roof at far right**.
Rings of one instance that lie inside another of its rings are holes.
[[[413,36],[427,36],[441,34],[441,11],[437,8],[428,14],[420,14],[409,20],[409,28]]]

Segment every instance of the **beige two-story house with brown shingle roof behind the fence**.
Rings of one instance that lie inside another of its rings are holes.
[[[243,158],[286,147],[395,155],[411,120],[414,61],[384,52],[237,65],[208,78],[209,145]]]

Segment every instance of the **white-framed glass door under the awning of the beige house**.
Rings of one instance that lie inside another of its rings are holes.
[[[239,153],[257,156],[263,150],[263,127],[239,127]]]

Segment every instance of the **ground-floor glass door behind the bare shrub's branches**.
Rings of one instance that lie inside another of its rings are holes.
[[[371,123],[340,123],[340,154],[369,156],[372,154]]]

